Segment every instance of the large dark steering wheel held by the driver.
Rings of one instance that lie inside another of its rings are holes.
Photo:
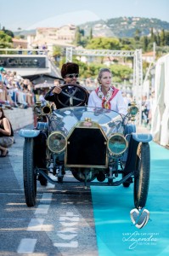
[[[64,84],[60,88],[62,91],[56,94],[56,101],[62,107],[84,106],[88,100],[88,92],[78,84]]]

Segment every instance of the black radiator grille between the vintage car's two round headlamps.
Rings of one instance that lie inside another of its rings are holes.
[[[75,128],[65,153],[67,166],[106,166],[106,138],[99,128]]]

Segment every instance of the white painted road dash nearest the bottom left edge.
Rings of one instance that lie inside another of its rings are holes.
[[[17,253],[33,253],[37,239],[23,238],[20,241]]]

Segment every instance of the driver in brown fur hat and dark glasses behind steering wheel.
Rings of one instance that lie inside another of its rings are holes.
[[[61,68],[61,76],[64,79],[63,84],[77,84],[77,79],[79,77],[79,66],[73,62],[65,63]],[[63,85],[61,84],[61,85]],[[54,102],[56,108],[63,108],[59,105],[59,102],[56,100],[56,95],[62,91],[59,85],[54,86],[48,93],[45,95],[45,100],[49,102]]]

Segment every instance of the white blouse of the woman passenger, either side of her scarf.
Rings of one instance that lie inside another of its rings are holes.
[[[93,90],[90,93],[87,106],[102,108],[102,100],[96,94],[95,90]],[[119,90],[115,95],[115,97],[110,101],[110,106],[111,106],[110,108],[111,110],[114,110],[118,113],[127,114],[127,106],[124,102],[123,96],[121,95],[121,90]]]

